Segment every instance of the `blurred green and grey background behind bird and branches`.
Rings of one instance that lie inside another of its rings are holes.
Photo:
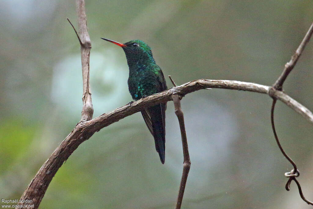
[[[123,50],[100,39],[148,43],[167,86],[195,79],[271,85],[313,20],[307,1],[87,1],[94,117],[131,101]],[[0,199],[19,198],[80,120],[82,76],[74,1],[0,1]],[[284,85],[313,110],[313,41]],[[270,126],[271,99],[212,89],[182,99],[191,159],[182,208],[310,208]],[[312,124],[278,102],[278,135],[313,200]],[[95,133],[60,168],[40,208],[173,208],[182,145],[172,102],[166,161],[140,113]]]

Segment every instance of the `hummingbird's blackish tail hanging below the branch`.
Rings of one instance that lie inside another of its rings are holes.
[[[156,151],[159,153],[162,164],[165,162],[165,109],[165,104],[158,104],[147,108],[147,112],[149,112],[151,118],[151,133],[156,145]]]

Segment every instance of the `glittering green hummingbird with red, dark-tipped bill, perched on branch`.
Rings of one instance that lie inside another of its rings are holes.
[[[121,44],[110,39],[101,39],[116,44],[124,50],[129,67],[128,90],[135,101],[167,90],[163,72],[153,59],[151,48],[145,42],[132,40]],[[156,151],[162,164],[165,162],[165,110],[166,103],[141,110],[142,117],[154,138]]]

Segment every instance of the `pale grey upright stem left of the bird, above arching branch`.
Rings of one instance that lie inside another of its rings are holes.
[[[87,18],[84,0],[76,0],[76,12],[77,12],[77,22],[80,29],[79,32],[80,35],[77,35],[77,37],[80,42],[81,66],[83,72],[83,98],[82,98],[83,109],[81,111],[80,121],[87,121],[91,120],[92,115],[94,113],[94,108],[91,101],[91,91],[89,82],[91,42],[87,31]],[[76,30],[75,33],[77,34]]]

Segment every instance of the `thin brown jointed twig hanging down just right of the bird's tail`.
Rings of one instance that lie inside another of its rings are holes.
[[[172,81],[172,79],[171,79],[171,81]],[[173,81],[173,84],[174,84],[174,81]],[[176,116],[178,118],[178,122],[179,122],[180,133],[182,136],[182,150],[183,150],[183,154],[184,154],[182,179],[180,181],[179,192],[178,192],[176,206],[175,206],[176,209],[180,209],[180,207],[182,205],[182,198],[184,196],[184,191],[185,191],[185,187],[186,187],[186,182],[187,182],[187,177],[188,177],[188,173],[190,170],[191,162],[190,162],[189,152],[188,152],[188,143],[187,143],[185,122],[184,122],[184,114],[182,112],[182,107],[180,105],[180,99],[181,98],[178,94],[173,94],[172,99],[173,99],[174,106],[175,106],[175,114],[176,114]]]

